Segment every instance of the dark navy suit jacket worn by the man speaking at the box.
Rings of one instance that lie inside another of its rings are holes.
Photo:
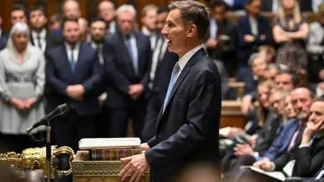
[[[145,152],[155,182],[167,182],[197,162],[219,166],[221,81],[216,64],[200,49],[178,76],[156,135]],[[217,179],[215,179],[217,180]]]

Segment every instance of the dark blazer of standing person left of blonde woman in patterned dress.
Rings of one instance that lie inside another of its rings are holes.
[[[237,64],[239,67],[248,66],[248,60],[250,56],[253,53],[258,52],[260,45],[271,44],[272,37],[268,18],[264,16],[258,16],[257,22],[259,35],[255,36],[256,39],[253,42],[247,42],[244,39],[244,36],[247,34],[252,35],[249,17],[245,16],[238,19]],[[261,35],[264,35],[265,38],[261,39]]]

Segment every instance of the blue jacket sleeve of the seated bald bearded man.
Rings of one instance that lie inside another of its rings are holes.
[[[278,138],[272,143],[271,147],[263,157],[267,157],[270,160],[273,160],[275,157],[287,152],[293,135],[298,129],[298,123],[299,120],[296,118],[287,121]]]

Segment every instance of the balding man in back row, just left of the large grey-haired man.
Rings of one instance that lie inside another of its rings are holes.
[[[98,4],[98,17],[106,21],[107,35],[116,31],[115,5],[112,2],[102,1]]]

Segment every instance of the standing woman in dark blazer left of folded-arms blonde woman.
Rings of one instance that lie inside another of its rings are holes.
[[[247,15],[238,19],[237,68],[248,67],[248,60],[260,45],[271,44],[268,18],[261,16],[261,0],[248,0]]]

